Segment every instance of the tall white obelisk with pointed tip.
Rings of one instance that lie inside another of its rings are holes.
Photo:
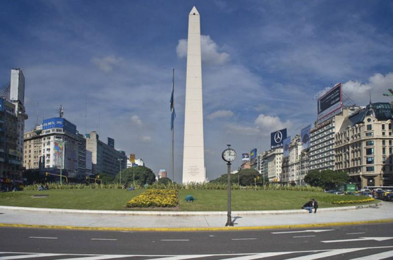
[[[188,17],[186,104],[184,116],[183,183],[205,182],[203,150],[202,64],[200,19],[195,6]]]

